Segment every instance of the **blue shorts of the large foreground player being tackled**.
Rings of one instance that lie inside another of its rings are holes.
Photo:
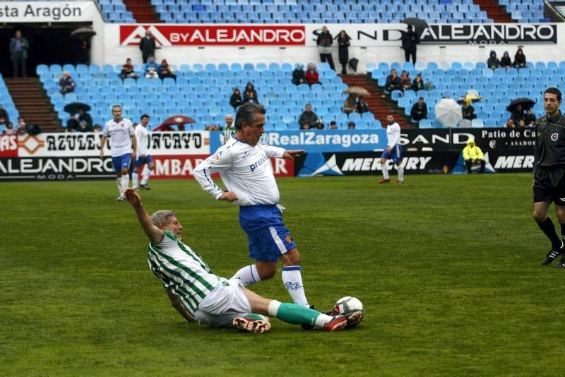
[[[281,255],[296,247],[276,205],[240,207],[239,225],[249,239],[249,258],[277,262]]]

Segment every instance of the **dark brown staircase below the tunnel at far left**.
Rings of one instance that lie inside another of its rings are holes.
[[[5,78],[4,80],[25,123],[37,124],[43,132],[61,131],[61,121],[38,78]]]

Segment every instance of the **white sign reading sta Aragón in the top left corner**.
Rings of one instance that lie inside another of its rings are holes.
[[[2,23],[92,21],[94,1],[0,1]]]

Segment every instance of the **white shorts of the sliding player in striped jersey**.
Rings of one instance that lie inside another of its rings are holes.
[[[194,319],[211,328],[231,327],[235,317],[251,313],[251,304],[245,296],[241,280],[220,277],[218,284],[206,296],[194,313]]]

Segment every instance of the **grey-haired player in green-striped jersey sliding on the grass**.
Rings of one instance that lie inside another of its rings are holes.
[[[251,333],[270,330],[270,322],[263,316],[328,331],[343,330],[362,321],[361,311],[327,315],[266,299],[246,289],[239,279],[214,275],[201,256],[182,242],[183,227],[174,211],[160,210],[149,216],[133,188],[128,188],[125,196],[149,237],[149,268],[159,277],[172,306],[186,321],[210,327],[233,326]]]

